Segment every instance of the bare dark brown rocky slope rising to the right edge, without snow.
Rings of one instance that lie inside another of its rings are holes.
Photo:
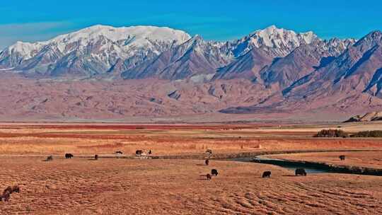
[[[306,76],[291,83],[281,93],[275,91],[262,103],[228,108],[223,112],[255,112],[267,108],[325,109],[331,112],[381,110],[381,35],[380,31],[369,33],[339,56],[333,56],[325,66],[307,72]]]

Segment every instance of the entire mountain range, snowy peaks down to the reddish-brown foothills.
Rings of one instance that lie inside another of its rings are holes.
[[[0,52],[0,70],[23,81],[64,81],[73,86],[79,80],[105,84],[135,80],[143,88],[163,91],[141,94],[125,89],[138,98],[129,105],[137,111],[122,111],[125,117],[184,112],[290,117],[303,112],[312,119],[325,113],[325,120],[339,120],[382,108],[381,45],[378,30],[359,40],[322,40],[313,32],[295,33],[272,25],[238,40],[214,42],[170,28],[95,25],[45,42],[16,42]],[[153,80],[166,87],[153,85]],[[161,95],[153,96],[156,93]],[[2,105],[0,114],[15,102]],[[118,99],[114,103],[122,109],[126,105]],[[168,111],[171,108],[174,111]],[[42,107],[37,113],[54,112],[48,109]],[[88,113],[69,115],[97,118]]]

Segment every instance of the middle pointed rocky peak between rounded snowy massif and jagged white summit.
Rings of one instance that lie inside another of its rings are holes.
[[[194,79],[209,80],[216,68],[233,61],[227,42],[205,41],[199,35],[182,45],[161,53],[156,59],[125,71],[125,79]]]

